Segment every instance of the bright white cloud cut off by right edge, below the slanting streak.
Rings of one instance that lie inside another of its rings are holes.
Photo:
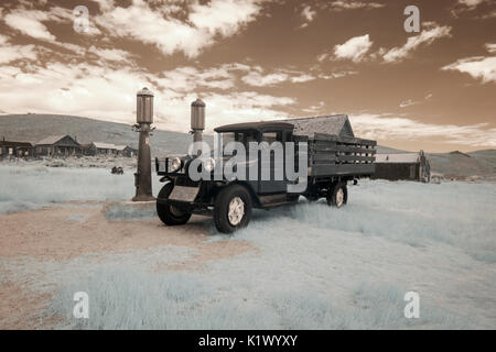
[[[481,79],[484,84],[496,82],[496,56],[485,57],[475,56],[456,61],[446,65],[443,70],[459,70],[471,75],[473,78]]]

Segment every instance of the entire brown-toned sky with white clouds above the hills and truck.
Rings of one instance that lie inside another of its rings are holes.
[[[496,148],[496,1],[0,2],[1,114],[131,124],[143,87],[162,130],[188,132],[200,97],[207,133],[347,113],[381,145]]]

